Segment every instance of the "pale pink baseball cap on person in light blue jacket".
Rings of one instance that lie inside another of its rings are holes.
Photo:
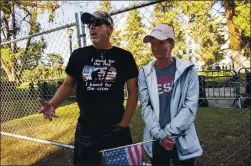
[[[149,35],[144,37],[143,42],[148,43],[153,37],[158,40],[166,40],[168,38],[174,40],[173,28],[167,24],[158,24]]]

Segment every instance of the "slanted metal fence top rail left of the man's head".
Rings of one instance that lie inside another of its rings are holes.
[[[3,45],[14,43],[14,42],[17,42],[17,41],[22,41],[22,40],[33,38],[33,37],[36,37],[36,36],[44,35],[44,34],[47,34],[47,33],[59,31],[59,30],[66,29],[66,28],[70,28],[70,27],[73,27],[73,26],[76,26],[76,23],[66,24],[66,25],[61,26],[61,27],[57,27],[57,28],[53,28],[53,29],[50,29],[50,30],[47,30],[47,31],[35,33],[33,35],[29,35],[29,36],[22,37],[22,38],[19,38],[19,39],[14,39],[14,40],[6,41],[6,42],[3,42],[3,43],[0,43],[0,45],[3,46]]]

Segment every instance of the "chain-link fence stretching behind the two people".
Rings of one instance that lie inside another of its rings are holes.
[[[94,8],[100,3],[94,2]],[[200,75],[195,126],[204,154],[196,165],[250,164],[250,2],[111,1],[107,9],[115,23],[112,44],[132,52],[139,68],[152,58],[149,45],[142,42],[144,35],[158,23],[173,25],[174,54],[194,62]],[[1,43],[4,165],[72,164],[79,114],[75,92],[58,108],[60,118],[51,122],[37,114],[37,99],[52,98],[64,80],[71,52],[91,44],[88,29],[79,23],[79,15],[75,17],[56,28]],[[134,142],[141,142],[140,107],[131,128]],[[150,163],[147,156],[144,162]]]

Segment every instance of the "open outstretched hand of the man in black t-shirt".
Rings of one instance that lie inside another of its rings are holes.
[[[50,103],[48,103],[40,98],[38,100],[39,100],[40,104],[42,105],[42,107],[39,110],[39,113],[40,114],[43,113],[45,119],[48,118],[49,120],[52,120],[52,117],[55,117],[55,118],[59,117],[58,115],[56,115],[55,109],[53,108],[53,106]]]

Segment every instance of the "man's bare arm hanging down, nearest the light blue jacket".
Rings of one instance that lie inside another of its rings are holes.
[[[137,106],[138,102],[137,78],[132,78],[127,80],[127,90],[128,90],[128,99],[126,103],[126,110],[121,122],[119,123],[119,125],[122,127],[129,126],[129,123]]]

